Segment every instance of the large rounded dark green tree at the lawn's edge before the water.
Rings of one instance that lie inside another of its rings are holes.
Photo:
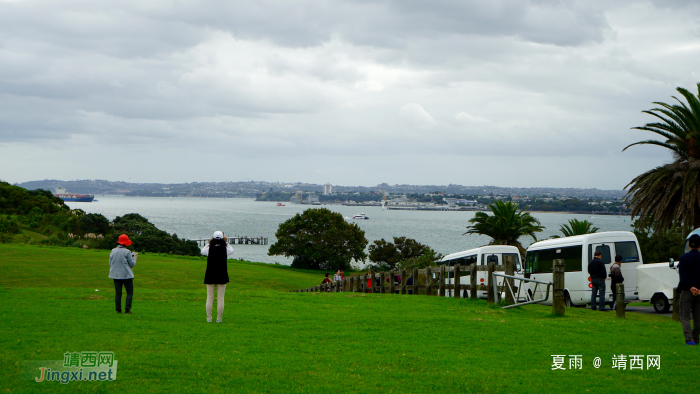
[[[349,269],[350,262],[367,255],[365,232],[343,215],[326,208],[310,208],[281,223],[277,242],[268,255],[293,257],[292,267],[320,270]]]

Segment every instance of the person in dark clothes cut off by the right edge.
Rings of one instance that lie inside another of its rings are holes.
[[[693,234],[688,238],[690,252],[681,256],[678,263],[681,292],[680,316],[686,345],[697,345],[700,334],[700,235]],[[690,326],[690,316],[693,316],[693,327]]]

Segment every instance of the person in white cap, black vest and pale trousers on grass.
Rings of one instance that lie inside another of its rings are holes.
[[[209,244],[202,249],[202,255],[207,256],[207,271],[204,274],[204,284],[207,285],[207,322],[211,323],[211,313],[214,309],[214,290],[216,290],[216,322],[224,318],[224,294],[228,280],[227,259],[233,254],[233,247],[226,242],[226,236],[221,231],[215,231]]]

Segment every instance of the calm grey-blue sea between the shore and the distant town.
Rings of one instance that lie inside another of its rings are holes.
[[[216,230],[227,236],[247,235],[269,238],[266,246],[235,245],[234,258],[265,263],[279,262],[291,264],[291,259],[282,256],[268,256],[269,245],[276,241],[277,226],[291,216],[303,212],[308,205],[278,207],[275,202],[256,202],[252,199],[211,199],[211,198],[157,198],[157,197],[118,197],[96,196],[98,202],[68,202],[72,209],[80,208],[87,213],[101,213],[112,220],[127,213],[138,213],[169,233],[177,233],[181,238],[209,238]],[[469,225],[474,212],[442,211],[383,211],[380,207],[347,207],[323,205],[338,212],[348,221],[357,223],[365,231],[367,240],[406,236],[428,245],[442,254],[471,249],[488,244],[488,237],[462,235]],[[369,220],[351,219],[356,213],[364,212]],[[545,239],[559,233],[559,227],[569,219],[587,219],[600,231],[630,231],[627,216],[593,216],[584,214],[532,213],[546,229],[538,235]],[[521,240],[525,246],[531,238]]]

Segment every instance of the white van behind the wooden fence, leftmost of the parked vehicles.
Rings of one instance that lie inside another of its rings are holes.
[[[513,256],[515,258],[515,271],[522,271],[522,265],[520,264],[520,253],[518,248],[509,245],[492,245],[492,246],[482,246],[480,248],[469,249],[462,252],[452,253],[445,256],[440,263],[445,264],[449,267],[459,264],[461,267],[460,284],[468,285],[470,283],[469,270],[467,266],[472,263],[476,265],[487,265],[490,262],[494,262],[497,265],[505,263],[505,256]],[[501,271],[502,273],[502,271]],[[445,279],[445,284],[454,284],[454,273],[449,273],[448,277]],[[477,271],[476,273],[476,283],[478,285],[488,284],[486,280],[486,271]],[[500,282],[498,284],[501,285]],[[469,293],[467,293],[469,294]],[[454,297],[453,290],[445,290],[446,297]],[[477,296],[479,298],[487,298],[486,291],[478,291]]]

